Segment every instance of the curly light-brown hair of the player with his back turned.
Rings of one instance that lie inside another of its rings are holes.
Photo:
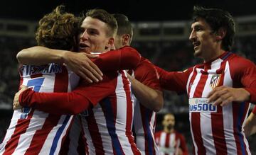
[[[81,19],[75,17],[72,13],[65,12],[65,6],[57,6],[39,21],[36,30],[36,41],[41,46],[58,50],[70,50],[76,45],[75,39],[80,24]]]

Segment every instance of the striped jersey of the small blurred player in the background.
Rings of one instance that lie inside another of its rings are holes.
[[[181,149],[183,155],[188,155],[186,141],[182,134],[176,131],[171,133],[159,131],[154,134],[154,137],[161,155],[178,155],[178,149]]]

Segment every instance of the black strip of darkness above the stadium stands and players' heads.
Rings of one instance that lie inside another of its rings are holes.
[[[103,8],[110,13],[124,13],[130,21],[181,21],[191,18],[194,5],[223,8],[233,16],[256,14],[256,1],[231,0],[5,0],[1,1],[0,18],[38,21],[44,14],[64,4],[68,11],[79,14],[90,8]]]

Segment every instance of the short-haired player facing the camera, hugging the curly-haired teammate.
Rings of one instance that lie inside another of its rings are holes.
[[[105,52],[114,43],[117,23],[106,11],[93,9],[87,11],[81,28],[80,50]],[[129,88],[124,71],[110,71],[98,84],[82,81],[71,93],[36,93],[28,89],[18,93],[21,105],[48,113],[77,114],[85,110],[81,122],[89,154],[140,154],[132,137]]]

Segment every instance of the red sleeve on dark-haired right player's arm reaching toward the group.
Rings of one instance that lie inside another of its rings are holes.
[[[186,69],[185,71],[166,71],[160,67],[156,67],[156,70],[159,73],[161,88],[176,91],[177,93],[186,93],[186,84],[192,68]]]

